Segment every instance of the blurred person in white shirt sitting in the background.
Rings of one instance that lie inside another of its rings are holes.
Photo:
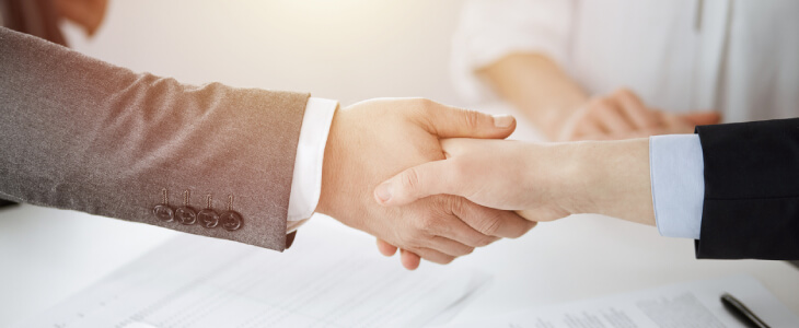
[[[465,95],[498,95],[548,140],[795,117],[797,14],[791,0],[472,0],[453,69]]]

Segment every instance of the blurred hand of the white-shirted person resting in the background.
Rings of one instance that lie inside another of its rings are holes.
[[[670,114],[649,108],[632,91],[595,97],[572,114],[559,140],[618,140],[656,134],[692,133],[695,126],[718,124],[716,112]]]

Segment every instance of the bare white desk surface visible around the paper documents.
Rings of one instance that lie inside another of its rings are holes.
[[[532,138],[521,127],[517,138]],[[317,229],[352,234],[378,251],[371,236],[321,215],[302,227],[296,243],[303,242],[303,230]],[[0,327],[46,311],[175,234],[32,206],[0,211]],[[598,215],[543,223],[519,239],[497,242],[451,265],[476,267],[494,278],[458,317],[737,273],[755,277],[799,314],[799,270],[781,261],[696,260],[693,247],[693,241],[661,237],[655,227]],[[291,256],[290,250],[285,255]],[[396,257],[386,260],[403,270]]]

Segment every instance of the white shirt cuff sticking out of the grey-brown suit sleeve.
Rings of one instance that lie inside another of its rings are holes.
[[[311,218],[316,210],[322,192],[322,161],[337,107],[336,101],[314,97],[308,99],[291,179],[287,233],[297,230],[300,225],[298,221]]]

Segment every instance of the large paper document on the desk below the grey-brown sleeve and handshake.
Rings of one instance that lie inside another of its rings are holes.
[[[181,235],[22,327],[414,327],[487,280],[316,237],[280,254]]]

